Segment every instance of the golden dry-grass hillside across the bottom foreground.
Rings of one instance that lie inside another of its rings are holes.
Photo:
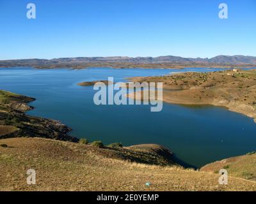
[[[0,140],[0,190],[13,191],[256,191],[256,183],[179,166],[131,163],[115,150],[42,138]],[[125,154],[125,153],[124,153]],[[36,170],[36,185],[26,171]],[[146,182],[152,185],[145,186]]]

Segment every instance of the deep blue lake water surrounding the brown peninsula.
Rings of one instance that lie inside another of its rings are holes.
[[[105,144],[159,143],[193,166],[237,156],[256,149],[256,124],[249,117],[215,106],[180,106],[164,103],[161,112],[148,105],[93,103],[93,87],[79,82],[126,77],[166,75],[180,71],[220,69],[33,69],[1,68],[0,89],[36,98],[30,115],[61,120],[74,129],[70,135]]]

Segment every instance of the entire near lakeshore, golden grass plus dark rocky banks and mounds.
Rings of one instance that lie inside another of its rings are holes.
[[[150,188],[152,191],[255,190],[255,182],[253,182],[256,178],[255,165],[253,165],[256,158],[255,152],[236,157],[235,160],[230,158],[207,164],[199,171],[184,168],[175,163],[172,150],[162,145],[97,147],[93,143],[77,143],[79,141],[77,138],[67,135],[71,129],[61,122],[26,115],[25,112],[33,108],[28,103],[34,100],[34,98],[0,91],[0,179],[3,180],[0,184],[1,190],[31,190],[28,185],[24,186],[23,178],[19,176],[24,169],[17,168],[20,164],[27,168],[35,166],[40,173],[40,181],[44,184],[36,185],[36,191],[49,189],[63,191],[70,188],[77,190],[77,187],[86,191],[145,190],[138,180],[134,180],[134,174],[140,179],[144,178],[144,182],[148,181],[149,175],[154,175],[150,177],[150,182],[153,184]],[[239,168],[236,167],[237,161],[243,162]],[[234,177],[229,178],[228,187],[216,186],[220,168],[232,170],[230,175]],[[41,169],[44,171],[40,171]],[[7,172],[11,177],[4,176]],[[45,172],[52,172],[52,174]],[[119,179],[113,179],[114,174],[115,178]],[[82,181],[79,180],[77,183],[73,175],[76,178],[77,175],[86,176],[92,181],[85,182],[81,186]],[[170,177],[170,175],[175,176]],[[56,176],[57,180],[50,179],[52,182],[47,182],[49,177],[56,178]],[[99,180],[106,179],[104,188],[99,186],[99,181],[95,180],[95,177]],[[15,178],[15,182],[10,178]],[[67,180],[74,182],[65,182]],[[170,180],[172,180],[171,184]],[[186,181],[187,186],[184,186],[182,180]],[[131,182],[132,189],[125,186],[127,182]],[[18,186],[17,183],[19,183]]]

